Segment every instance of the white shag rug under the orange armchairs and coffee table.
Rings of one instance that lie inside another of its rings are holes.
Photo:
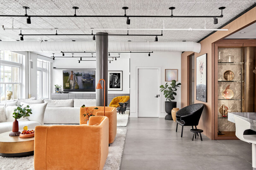
[[[125,146],[127,129],[117,129],[116,138],[108,149],[104,170],[119,170]],[[34,170],[34,156],[6,158],[0,156],[0,169]]]

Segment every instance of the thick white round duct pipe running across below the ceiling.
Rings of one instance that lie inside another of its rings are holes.
[[[0,41],[0,50],[9,51],[96,51],[95,41]],[[201,44],[195,42],[108,42],[108,51],[158,51],[199,53]]]

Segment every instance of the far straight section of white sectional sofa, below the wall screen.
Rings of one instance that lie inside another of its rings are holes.
[[[96,106],[96,99],[45,99],[44,102],[47,103],[45,124],[79,124],[80,107],[82,105]]]

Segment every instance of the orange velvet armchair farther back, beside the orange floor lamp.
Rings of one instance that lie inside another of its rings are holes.
[[[97,107],[98,109],[94,109]],[[86,124],[87,121],[86,118],[83,116],[85,114],[85,108],[80,108],[80,125]],[[93,110],[93,115],[95,116],[104,116],[104,107],[103,106],[91,106],[88,107],[89,109]],[[117,120],[116,120],[116,108],[115,107],[105,107],[105,116],[108,117],[109,120],[109,144],[114,142],[114,139],[116,137],[116,126],[117,126]],[[91,116],[94,117],[94,116]],[[90,121],[89,121],[90,123]]]

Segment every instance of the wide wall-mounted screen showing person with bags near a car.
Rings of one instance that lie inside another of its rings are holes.
[[[63,71],[63,91],[95,92],[95,70]]]

